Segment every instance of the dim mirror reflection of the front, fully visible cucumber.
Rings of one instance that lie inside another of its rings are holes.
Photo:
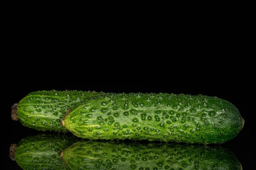
[[[76,142],[61,153],[72,170],[241,170],[220,146],[120,141]]]

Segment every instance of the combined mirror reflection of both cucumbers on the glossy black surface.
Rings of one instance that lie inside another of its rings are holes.
[[[220,145],[81,140],[53,133],[24,138],[10,149],[10,157],[24,170],[242,169],[236,156]]]

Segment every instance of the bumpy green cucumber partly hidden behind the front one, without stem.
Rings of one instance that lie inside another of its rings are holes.
[[[90,96],[100,96],[96,91],[35,91],[20,100],[17,116],[22,125],[36,130],[67,132],[61,126],[65,113],[77,102]]]

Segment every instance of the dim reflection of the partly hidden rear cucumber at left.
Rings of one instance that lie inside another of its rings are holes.
[[[9,157],[23,170],[70,170],[59,157],[59,152],[78,142],[71,133],[39,134],[12,144]]]

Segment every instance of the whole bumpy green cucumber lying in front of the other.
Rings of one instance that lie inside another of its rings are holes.
[[[84,139],[135,139],[221,144],[244,125],[238,109],[218,97],[106,94],[78,103],[62,124]]]

